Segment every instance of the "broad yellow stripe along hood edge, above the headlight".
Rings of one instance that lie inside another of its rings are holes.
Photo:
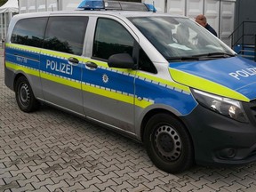
[[[180,82],[180,84],[186,84],[204,92],[211,92],[213,94],[221,95],[223,97],[232,98],[235,100],[250,101],[243,94],[231,90],[230,88],[221,84],[216,84],[202,77],[194,76],[174,68],[169,68],[169,71],[172,75],[172,78],[175,81]]]

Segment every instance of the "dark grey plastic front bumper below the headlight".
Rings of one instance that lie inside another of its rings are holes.
[[[190,132],[197,164],[247,164],[256,161],[256,125],[240,123],[198,105],[181,117]]]

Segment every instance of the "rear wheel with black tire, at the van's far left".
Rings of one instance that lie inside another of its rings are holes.
[[[31,89],[28,79],[20,76],[15,84],[15,97],[20,110],[29,113],[40,107],[40,103],[36,100]]]

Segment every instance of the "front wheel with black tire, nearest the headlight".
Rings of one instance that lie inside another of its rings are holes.
[[[164,172],[178,173],[194,164],[194,148],[186,127],[168,114],[152,116],[144,132],[151,161]]]

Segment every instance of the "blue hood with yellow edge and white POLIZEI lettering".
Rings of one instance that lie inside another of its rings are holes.
[[[256,62],[241,57],[170,63],[180,84],[236,100],[256,99]]]

